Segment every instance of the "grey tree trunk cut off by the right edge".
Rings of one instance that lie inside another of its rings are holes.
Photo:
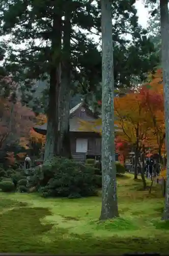
[[[163,219],[169,220],[169,16],[168,0],[160,0],[161,39],[162,39],[162,71],[166,131],[166,193]]]

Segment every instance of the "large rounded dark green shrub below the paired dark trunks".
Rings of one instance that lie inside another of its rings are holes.
[[[95,196],[98,183],[94,167],[66,158],[54,158],[45,163],[39,175],[39,191],[43,197]]]

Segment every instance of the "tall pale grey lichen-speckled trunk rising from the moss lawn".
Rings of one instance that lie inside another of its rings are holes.
[[[111,1],[101,0],[102,29],[102,208],[101,220],[118,217],[115,164],[114,66]]]

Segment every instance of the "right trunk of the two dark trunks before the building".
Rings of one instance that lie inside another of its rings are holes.
[[[62,82],[60,94],[60,147],[61,156],[71,158],[69,134],[70,84],[71,84],[71,1],[65,3],[63,37]]]

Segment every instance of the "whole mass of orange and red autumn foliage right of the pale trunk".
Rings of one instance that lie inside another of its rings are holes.
[[[149,82],[121,98],[115,98],[116,123],[121,127],[120,138],[150,147],[152,153],[165,152],[165,118],[163,107],[162,72],[150,74]]]

